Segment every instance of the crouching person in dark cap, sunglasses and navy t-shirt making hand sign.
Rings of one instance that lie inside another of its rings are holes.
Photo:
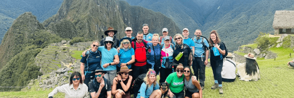
[[[111,84],[103,77],[105,73],[103,70],[95,71],[95,78],[89,83],[90,98],[111,98]]]

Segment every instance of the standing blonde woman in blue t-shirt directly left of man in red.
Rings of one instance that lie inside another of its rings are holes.
[[[120,40],[120,63],[117,65],[117,72],[120,72],[120,69],[123,66],[127,66],[128,69],[131,69],[132,63],[135,62],[135,51],[131,47],[131,41],[132,39],[128,37],[122,38]]]

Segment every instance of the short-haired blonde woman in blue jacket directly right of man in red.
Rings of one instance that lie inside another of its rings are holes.
[[[151,69],[156,73],[159,73],[161,62],[160,62],[160,45],[158,44],[159,35],[153,34],[152,43],[147,43],[148,55],[147,63],[151,66]]]

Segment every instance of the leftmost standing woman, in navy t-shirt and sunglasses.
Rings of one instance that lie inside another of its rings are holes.
[[[94,78],[95,70],[101,69],[100,61],[101,61],[101,51],[98,50],[99,42],[94,41],[91,44],[91,49],[86,50],[85,56],[82,57],[80,60],[81,62],[81,79],[84,81],[84,83],[88,85],[91,79]],[[92,77],[91,77],[92,76]]]

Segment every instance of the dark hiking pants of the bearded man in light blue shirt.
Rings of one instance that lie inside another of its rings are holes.
[[[197,77],[197,80],[199,80],[200,85],[204,86],[205,81],[205,57],[195,57],[193,60],[193,71],[194,75]]]

